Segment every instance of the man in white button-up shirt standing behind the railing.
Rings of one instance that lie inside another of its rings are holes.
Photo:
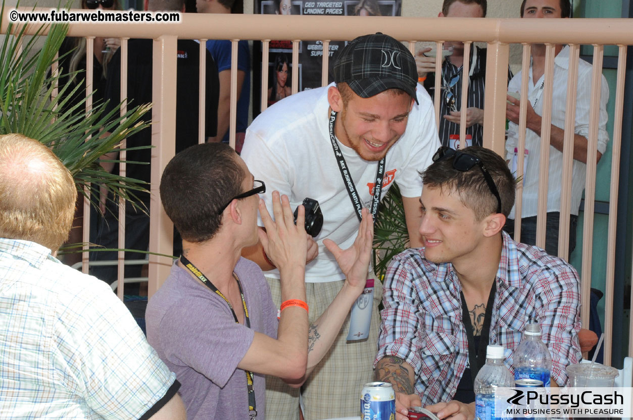
[[[521,4],[522,18],[569,18],[571,6],[569,0],[523,0]],[[546,168],[540,168],[541,142],[541,114],[544,102],[543,89],[545,78],[545,44],[532,45],[532,63],[529,70],[528,96],[517,99],[508,95],[506,116],[508,124],[508,140],[506,141],[506,159],[509,162],[517,159],[519,106],[522,100],[527,100],[527,114],[525,131],[525,156],[527,166],[523,170],[523,204],[521,209],[521,242],[536,244],[536,219],[539,201],[540,174],[548,171],[547,214],[545,250],[552,255],[558,255],[558,233],[560,225],[561,207],[561,179],[563,174],[563,140],[565,138],[565,118],[567,116],[567,79],[569,77],[570,49],[568,46],[555,46],[553,92],[551,102],[551,126],[549,135],[549,162]],[[573,163],[571,214],[569,220],[569,255],[576,246],[576,228],[582,191],[585,186],[587,173],[587,148],[589,145],[589,121],[591,120],[591,89],[592,67],[580,59],[578,63],[578,82],[576,93],[576,109],[573,127]],[[522,73],[519,72],[508,84],[508,92],[520,92]],[[606,104],[609,100],[609,87],[606,78],[601,77],[601,88],[598,109],[598,161],[606,151],[609,133],[606,131],[608,114]],[[516,164],[511,164],[513,168]],[[508,216],[506,232],[514,235],[515,209]],[[568,257],[568,256],[564,256]]]

